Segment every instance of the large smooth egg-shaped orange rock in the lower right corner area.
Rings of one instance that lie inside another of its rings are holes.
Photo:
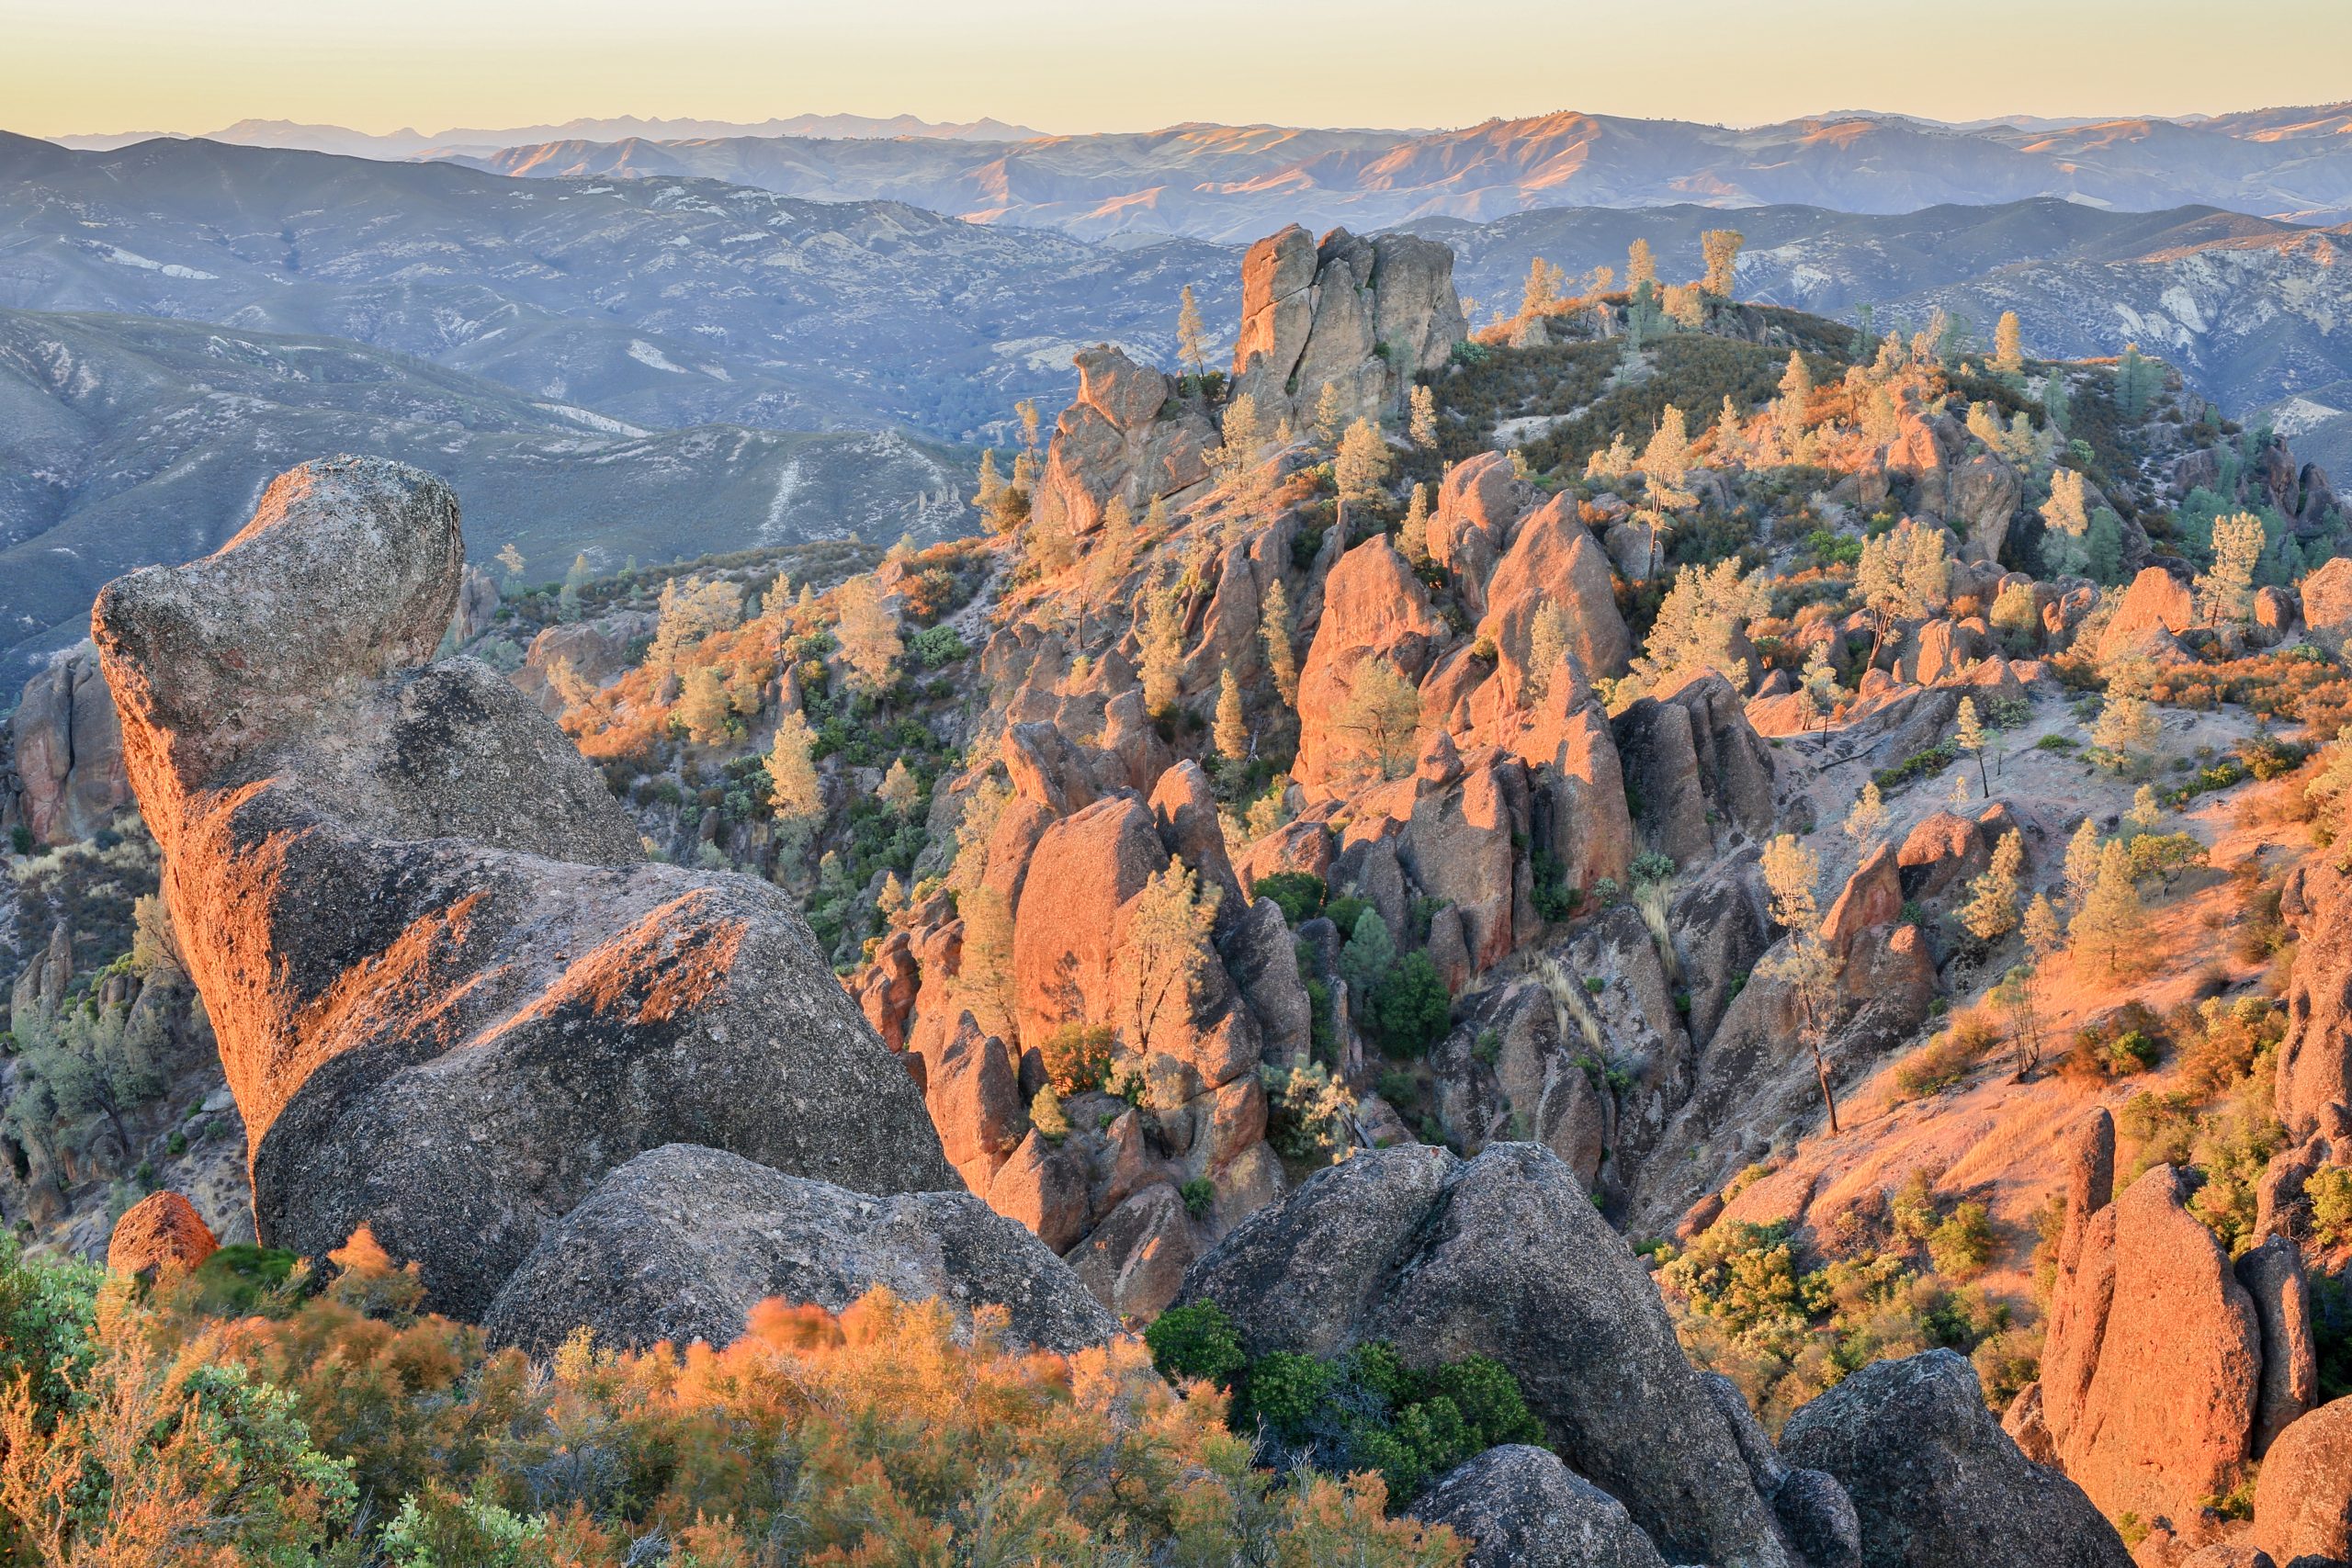
[[[2042,1415],[2065,1474],[2110,1516],[2187,1523],[2256,1458],[2260,1319],[2185,1199],[2180,1173],[2157,1166],[2060,1237]]]

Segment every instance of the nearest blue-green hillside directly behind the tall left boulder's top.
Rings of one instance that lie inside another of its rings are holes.
[[[477,559],[515,541],[529,581],[579,550],[609,571],[971,527],[964,454],[894,433],[630,430],[334,339],[0,310],[0,665],[87,635],[108,578],[219,548],[278,473],[336,451],[447,477]]]

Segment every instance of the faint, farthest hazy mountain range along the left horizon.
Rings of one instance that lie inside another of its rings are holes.
[[[689,139],[689,136],[936,136],[943,141],[1028,141],[1037,136],[1025,125],[1002,120],[971,120],[943,125],[917,120],[915,115],[793,115],[788,120],[640,120],[619,115],[612,120],[564,120],[562,125],[517,125],[503,132],[447,129],[426,134],[412,127],[397,132],[355,132],[343,125],[296,125],[294,120],[238,120],[216,132],[205,132],[202,141],[228,141],[249,148],[294,148],[303,153],[348,153],[350,158],[416,158],[419,153],[496,153],[499,148],[532,141],[619,141],[623,136]],[[139,141],[169,136],[169,132],[111,132],[99,136],[52,136],[59,146],[82,153],[111,153]]]

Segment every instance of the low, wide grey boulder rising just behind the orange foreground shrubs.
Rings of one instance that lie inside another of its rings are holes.
[[[1073,1352],[1117,1328],[1037,1237],[967,1192],[868,1197],[666,1145],[637,1154],[548,1227],[506,1279],[485,1328],[534,1356],[579,1328],[600,1345],[729,1345],[767,1298],[842,1312],[875,1286],[997,1305],[1011,1340]]]

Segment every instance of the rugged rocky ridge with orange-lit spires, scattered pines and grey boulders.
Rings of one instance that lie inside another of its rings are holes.
[[[113,588],[259,1239],[367,1222],[532,1349],[870,1284],[1150,1324],[1479,1561],[2345,1556],[2326,475],[1729,252],[1468,334],[1442,247],[1287,230],[1230,369],[1080,355],[988,538],[461,607],[506,684],[416,668],[407,470]],[[235,609],[296,578],[334,646]],[[127,1018],[75,952],[19,1084]],[[141,1114],[12,1112],[19,1171],[181,1185]]]

